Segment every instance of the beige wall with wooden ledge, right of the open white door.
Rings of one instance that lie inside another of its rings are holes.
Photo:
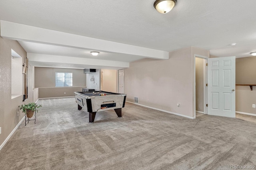
[[[236,84],[256,84],[256,56],[236,59]],[[236,86],[236,111],[256,114],[256,86]]]

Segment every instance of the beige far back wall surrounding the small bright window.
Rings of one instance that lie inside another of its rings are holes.
[[[82,92],[85,88],[86,74],[83,69],[35,67],[35,87],[39,98],[55,98],[74,96],[74,92]],[[72,72],[72,87],[55,87],[55,72]],[[66,93],[66,94],[65,94]]]

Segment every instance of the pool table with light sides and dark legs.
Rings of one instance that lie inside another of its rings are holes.
[[[94,122],[95,115],[99,111],[114,109],[118,117],[122,117],[126,94],[106,91],[74,92],[74,94],[78,110],[84,107],[89,112],[89,123]]]

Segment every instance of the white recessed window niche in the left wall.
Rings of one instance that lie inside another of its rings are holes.
[[[22,57],[12,50],[12,99],[22,95]]]

